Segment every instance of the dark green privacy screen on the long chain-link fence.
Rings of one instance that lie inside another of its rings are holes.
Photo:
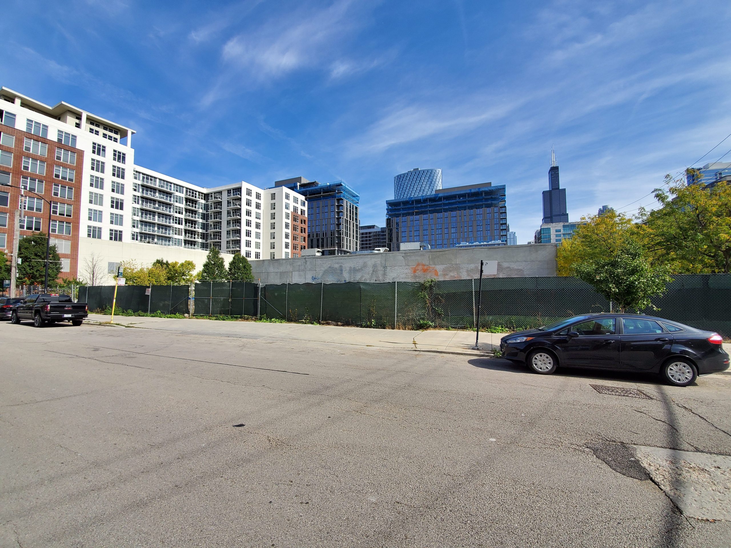
[[[731,274],[675,275],[647,313],[731,337]],[[117,307],[134,312],[196,316],[266,316],[289,321],[421,329],[473,328],[479,280],[390,283],[200,282],[194,286],[120,286]],[[145,290],[149,289],[149,292]],[[112,305],[113,286],[81,287],[89,310]],[[575,278],[485,278],[480,328],[521,330],[581,313],[608,312],[609,303]]]

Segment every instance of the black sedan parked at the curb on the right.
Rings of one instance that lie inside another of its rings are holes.
[[[500,340],[504,358],[548,375],[559,366],[659,373],[676,387],[729,368],[718,333],[654,316],[584,314]]]

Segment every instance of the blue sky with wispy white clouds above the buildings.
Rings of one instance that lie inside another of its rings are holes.
[[[730,26],[721,0],[6,0],[0,83],[132,127],[137,164],[202,186],[341,178],[363,224],[413,167],[504,184],[525,243],[551,145],[576,220],[652,205],[731,133]]]

